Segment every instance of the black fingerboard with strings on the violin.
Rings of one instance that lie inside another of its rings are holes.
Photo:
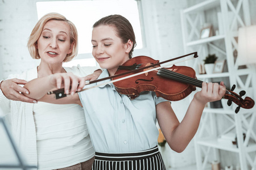
[[[203,81],[197,80],[197,79],[192,78],[192,77],[187,76],[187,75],[176,73],[175,71],[171,71],[171,70],[162,68],[158,71],[157,74],[160,75],[160,76],[164,76],[166,78],[177,80],[177,81],[182,82],[182,83],[187,83],[187,84],[191,84],[193,86],[202,88]]]

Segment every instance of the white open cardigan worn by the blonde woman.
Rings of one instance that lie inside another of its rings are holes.
[[[97,67],[80,67],[78,65],[72,68],[64,67],[64,69],[77,76],[85,76],[92,74]],[[37,77],[37,69],[34,68],[24,71],[22,74],[10,75],[8,79],[18,78],[29,81]],[[33,105],[32,103],[9,100],[0,90],[0,107],[5,113],[5,120],[10,125],[10,131],[13,134],[16,145],[18,145],[28,165],[37,165],[36,130],[32,114]]]

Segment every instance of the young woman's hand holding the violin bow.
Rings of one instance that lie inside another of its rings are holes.
[[[85,78],[73,73],[57,73],[50,76],[50,83],[57,88],[64,88],[65,94],[73,95],[85,86]]]

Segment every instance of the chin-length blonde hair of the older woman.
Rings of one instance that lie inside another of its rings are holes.
[[[58,13],[54,13],[54,12],[46,14],[41,19],[39,19],[38,23],[36,23],[34,29],[32,30],[31,35],[27,42],[27,48],[28,48],[28,51],[30,52],[30,56],[34,59],[40,58],[38,49],[36,48],[36,44],[37,44],[37,41],[43,31],[44,25],[49,20],[59,20],[59,21],[64,21],[69,24],[69,26],[71,28],[70,42],[71,42],[71,44],[73,43],[73,51],[70,54],[67,54],[67,56],[65,57],[63,62],[71,61],[71,59],[73,59],[77,55],[77,52],[78,52],[77,29],[71,21],[69,21],[65,18],[65,16],[58,14]]]

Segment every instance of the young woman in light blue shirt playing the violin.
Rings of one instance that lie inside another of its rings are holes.
[[[105,69],[99,79],[112,76],[118,66],[132,56],[136,44],[133,27],[121,15],[106,16],[93,25],[92,44],[93,57]],[[46,95],[53,88],[61,88],[61,82],[64,83],[65,93],[71,95],[59,100]],[[170,101],[157,97],[153,91],[144,91],[130,100],[109,83],[75,93],[84,86],[83,78],[60,73],[31,80],[25,87],[30,91],[27,96],[39,101],[76,103],[84,107],[96,150],[93,169],[165,169],[157,147],[156,120],[172,150],[182,152],[197,131],[205,104],[220,100],[226,89],[223,82],[204,82],[201,91],[194,95],[185,117],[179,122]]]

